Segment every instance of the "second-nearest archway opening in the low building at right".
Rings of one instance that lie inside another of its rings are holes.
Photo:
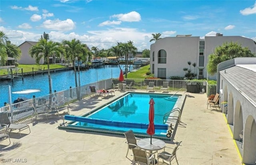
[[[233,139],[238,140],[239,134],[243,130],[243,112],[241,103],[239,100],[236,102],[235,113],[234,113],[234,128],[233,128]]]

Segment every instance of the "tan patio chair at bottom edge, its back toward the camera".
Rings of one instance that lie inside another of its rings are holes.
[[[139,165],[155,165],[155,154],[148,156],[147,152],[145,150],[141,149],[132,149],[133,153],[133,160],[132,164],[135,165],[135,163],[138,163]]]

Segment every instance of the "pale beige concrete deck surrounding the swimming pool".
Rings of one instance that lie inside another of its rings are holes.
[[[145,92],[145,90],[143,91]],[[174,94],[175,92],[169,92]],[[89,97],[70,104],[71,115],[82,115],[102,106],[123,94],[115,91],[115,96],[101,98]],[[178,94],[184,94],[180,92]],[[206,94],[185,93],[188,96],[181,116],[174,142],[182,141],[177,151],[180,165],[241,165],[240,155],[233,142],[232,135],[222,113],[207,109]],[[126,159],[127,144],[124,136],[108,136],[107,134],[90,134],[87,132],[66,132],[58,130],[63,122],[60,117],[49,117],[48,120],[28,120],[29,130],[22,131],[22,137],[10,133],[11,144],[7,140],[0,141],[0,164],[16,165],[129,165]],[[15,131],[14,131],[15,132]],[[26,135],[28,134],[28,135]],[[166,145],[174,147],[166,141]],[[132,154],[129,151],[128,155]],[[132,159],[132,156],[130,156]],[[8,163],[6,163],[9,161]],[[16,163],[14,161],[26,161]],[[159,165],[166,165],[159,160]],[[172,161],[175,165],[176,160]]]

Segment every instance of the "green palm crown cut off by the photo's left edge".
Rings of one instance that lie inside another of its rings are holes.
[[[21,56],[21,50],[17,45],[8,41],[7,35],[0,31],[0,61],[1,65],[6,65],[7,57],[13,57],[19,59]]]

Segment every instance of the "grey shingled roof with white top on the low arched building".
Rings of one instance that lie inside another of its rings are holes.
[[[235,65],[220,71],[220,74],[256,104],[256,64]]]

